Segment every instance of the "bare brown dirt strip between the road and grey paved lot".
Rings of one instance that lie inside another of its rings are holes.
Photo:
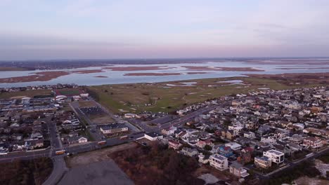
[[[66,163],[68,167],[77,167],[80,165],[87,165],[89,163],[95,163],[98,161],[110,160],[111,158],[108,156],[108,154],[114,153],[116,151],[131,149],[136,146],[137,144],[135,142],[130,142],[127,144],[121,144],[106,149],[90,151],[87,153],[78,154],[77,156],[73,156],[71,158],[67,158]]]

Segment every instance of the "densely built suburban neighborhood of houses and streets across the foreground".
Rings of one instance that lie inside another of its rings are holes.
[[[0,100],[1,157],[34,150],[58,157],[120,143],[157,142],[242,183],[328,149],[328,87],[228,95],[174,115],[122,116],[110,114],[78,86],[52,92]]]

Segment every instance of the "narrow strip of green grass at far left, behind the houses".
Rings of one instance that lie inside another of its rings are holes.
[[[5,92],[0,93],[0,99],[6,99],[11,97],[34,97],[36,95],[50,95],[51,90],[27,90],[18,92]]]

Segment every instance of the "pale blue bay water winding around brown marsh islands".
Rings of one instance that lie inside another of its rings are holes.
[[[167,66],[169,69],[144,70],[144,71],[111,71],[103,69],[104,72],[92,74],[68,74],[49,81],[32,81],[25,83],[0,83],[0,88],[22,87],[27,85],[52,85],[57,83],[76,83],[78,85],[103,85],[103,84],[121,84],[121,83],[155,83],[164,81],[181,81],[200,78],[223,78],[233,76],[243,76],[243,74],[283,74],[283,73],[325,73],[329,69],[278,69],[278,68],[298,68],[298,67],[329,67],[329,64],[307,65],[307,64],[254,64],[252,62],[203,62],[203,63],[184,63],[184,64],[117,64],[111,67],[146,67],[146,66]],[[211,70],[188,70],[182,66],[196,67],[252,67],[264,71],[211,71]],[[48,71],[75,71],[102,69],[102,67],[86,67],[79,69],[63,69]],[[37,71],[0,71],[0,78],[10,78],[15,76],[29,76]],[[207,74],[187,74],[187,72],[207,72]],[[181,75],[172,76],[124,76],[129,73],[181,73]],[[107,76],[108,78],[98,78],[95,76]],[[191,84],[193,85],[193,84]]]

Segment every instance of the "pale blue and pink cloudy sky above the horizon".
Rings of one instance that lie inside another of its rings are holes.
[[[328,0],[0,0],[0,60],[328,57]]]

